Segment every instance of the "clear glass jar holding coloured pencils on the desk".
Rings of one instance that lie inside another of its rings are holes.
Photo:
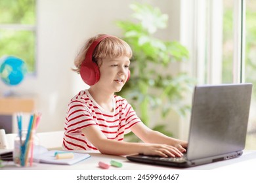
[[[32,166],[33,157],[37,153],[37,146],[39,146],[39,138],[35,131],[22,131],[14,139],[13,161],[18,167]]]

